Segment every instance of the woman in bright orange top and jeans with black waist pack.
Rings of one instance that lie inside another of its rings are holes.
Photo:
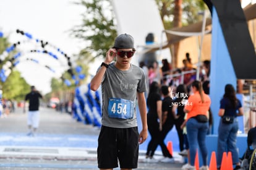
[[[189,155],[190,164],[187,169],[195,169],[195,155],[197,153],[197,146],[203,158],[203,166],[200,170],[207,170],[208,152],[205,143],[205,138],[208,131],[208,110],[210,108],[211,100],[208,95],[203,92],[202,84],[198,80],[192,83],[193,95],[189,99],[184,108],[187,113],[187,139],[189,140]]]

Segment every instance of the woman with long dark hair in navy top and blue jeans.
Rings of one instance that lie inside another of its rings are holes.
[[[238,113],[237,113],[238,111]],[[225,86],[225,93],[220,101],[220,110],[218,115],[221,116],[218,127],[218,150],[217,150],[217,168],[220,168],[223,152],[232,153],[233,164],[240,169],[239,154],[236,146],[236,137],[238,127],[237,116],[242,116],[241,101],[236,98],[236,91],[233,85]]]

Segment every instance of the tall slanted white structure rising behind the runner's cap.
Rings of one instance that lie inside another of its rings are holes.
[[[145,38],[148,33],[153,33],[156,43],[161,43],[161,32],[164,27],[158,7],[155,0],[112,0],[112,5],[117,19],[117,33],[127,33],[134,37],[138,53],[133,57],[132,62],[137,64],[143,49],[139,46],[145,46]],[[163,41],[167,41],[165,35]],[[169,49],[158,51],[157,54],[160,63],[162,58],[166,58],[168,61],[171,59]]]

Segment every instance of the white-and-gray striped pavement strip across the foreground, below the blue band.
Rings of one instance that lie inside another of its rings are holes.
[[[143,163],[140,152],[138,169],[181,169],[176,163]],[[175,155],[174,155],[175,157]],[[156,159],[161,155],[156,153]],[[98,169],[96,150],[90,148],[1,147],[0,169]],[[119,168],[116,168],[119,169]]]

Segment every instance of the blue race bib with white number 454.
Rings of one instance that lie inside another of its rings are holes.
[[[108,116],[119,119],[134,117],[134,102],[122,98],[110,98],[108,101]]]

